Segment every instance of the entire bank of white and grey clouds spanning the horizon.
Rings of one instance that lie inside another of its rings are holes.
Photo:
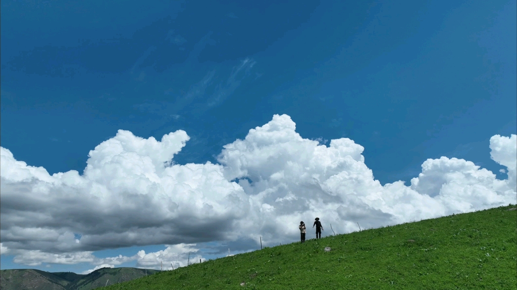
[[[287,115],[225,145],[218,164],[175,164],[188,140],[181,130],[160,141],[119,130],[89,152],[83,175],[50,175],[0,148],[2,254],[26,265],[136,260],[156,267],[160,259],[179,266],[195,243],[258,236],[287,243],[297,239],[300,220],[309,224],[316,216],[344,233],[357,223],[379,227],[517,202],[516,135],[490,139],[506,180],[467,160],[441,157],[426,160],[409,186],[381,185],[362,146],[348,138],[328,147],[302,138]],[[171,246],[110,261],[92,254],[158,244]]]

